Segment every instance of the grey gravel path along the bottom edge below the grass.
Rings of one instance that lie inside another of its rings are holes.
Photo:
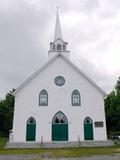
[[[120,154],[118,155],[102,155],[102,156],[91,156],[91,157],[80,157],[80,158],[54,158],[47,159],[45,155],[40,154],[20,154],[20,155],[0,155],[0,160],[120,160]]]

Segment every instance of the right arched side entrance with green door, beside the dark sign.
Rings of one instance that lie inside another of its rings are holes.
[[[90,117],[86,117],[84,120],[84,139],[93,140],[93,122]]]

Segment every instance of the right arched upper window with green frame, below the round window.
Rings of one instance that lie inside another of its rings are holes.
[[[81,98],[80,93],[78,90],[74,90],[72,92],[72,106],[80,106],[81,105]]]

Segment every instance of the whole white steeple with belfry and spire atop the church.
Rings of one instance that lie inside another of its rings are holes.
[[[53,55],[59,52],[69,58],[69,51],[67,50],[67,44],[68,43],[63,40],[59,13],[57,9],[54,41],[50,43],[50,50],[48,52],[48,56],[52,57]]]

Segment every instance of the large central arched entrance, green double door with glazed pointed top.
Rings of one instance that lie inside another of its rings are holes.
[[[52,120],[52,141],[68,141],[68,120],[60,111]]]

